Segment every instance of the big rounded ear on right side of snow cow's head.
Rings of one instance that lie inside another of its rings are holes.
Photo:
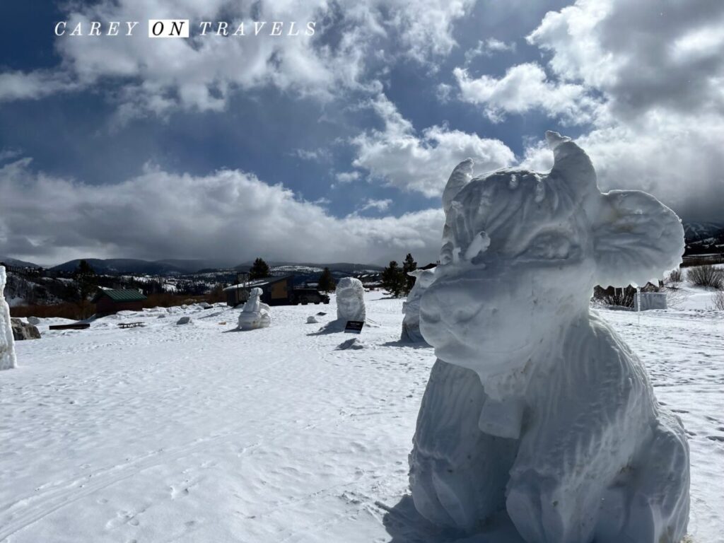
[[[639,190],[602,195],[593,233],[596,282],[602,287],[645,285],[681,264],[681,219]]]

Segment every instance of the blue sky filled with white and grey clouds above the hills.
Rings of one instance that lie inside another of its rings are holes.
[[[141,23],[54,35],[94,20]],[[723,89],[721,0],[4,1],[0,255],[434,261],[452,168],[547,169],[549,129],[721,220]]]

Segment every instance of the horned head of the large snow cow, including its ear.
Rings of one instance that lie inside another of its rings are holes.
[[[441,265],[421,300],[421,329],[439,358],[481,379],[522,372],[563,322],[588,313],[594,285],[645,285],[681,263],[673,211],[636,190],[602,194],[586,153],[546,136],[550,173],[472,179],[468,159],[443,195]]]

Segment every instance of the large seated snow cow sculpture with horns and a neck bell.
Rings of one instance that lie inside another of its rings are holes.
[[[421,298],[437,354],[410,455],[417,510],[474,531],[505,511],[529,543],[674,543],[689,447],[644,366],[597,313],[594,285],[644,285],[681,262],[678,217],[602,194],[589,157],[547,133],[550,173],[504,169],[443,195],[441,265]]]

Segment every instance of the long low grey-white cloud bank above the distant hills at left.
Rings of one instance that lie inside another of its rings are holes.
[[[146,167],[114,185],[35,172],[30,159],[0,167],[0,253],[70,258],[218,258],[383,263],[407,251],[439,253],[442,211],[335,217],[282,185],[222,169],[203,176]],[[369,202],[380,211],[390,202]]]

